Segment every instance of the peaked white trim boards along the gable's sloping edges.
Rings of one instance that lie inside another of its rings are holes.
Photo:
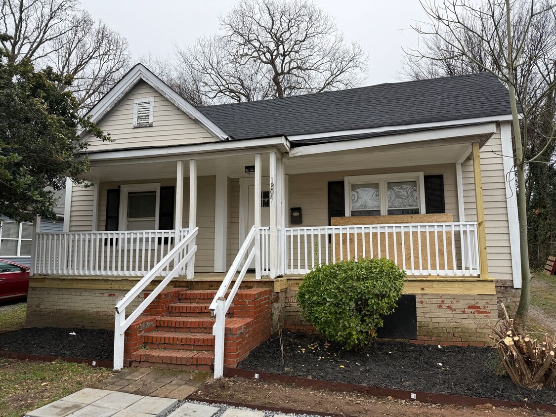
[[[229,135],[224,132],[220,127],[216,126],[208,117],[203,115],[197,110],[190,102],[185,100],[168,87],[165,82],[160,80],[156,75],[154,75],[150,69],[145,67],[143,64],[137,64],[133,67],[123,78],[116,84],[110,92],[107,93],[96,105],[93,107],[86,116],[91,116],[91,120],[96,122],[106,115],[121,98],[126,95],[138,81],[145,81],[148,85],[153,87],[156,91],[161,93],[167,100],[172,102],[181,111],[186,113],[187,116],[191,117],[193,120],[197,121],[201,125],[207,128],[212,135],[220,140],[226,140]]]

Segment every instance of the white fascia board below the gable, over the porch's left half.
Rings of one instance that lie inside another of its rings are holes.
[[[88,153],[90,161],[120,160],[122,158],[148,158],[155,156],[183,155],[183,160],[194,157],[196,153],[210,153],[222,151],[234,151],[250,148],[275,146],[282,152],[290,151],[290,142],[284,137],[269,137],[264,139],[246,139],[241,141],[220,141],[199,143],[198,145],[182,145],[170,147],[152,147],[143,149],[124,149],[108,152]]]

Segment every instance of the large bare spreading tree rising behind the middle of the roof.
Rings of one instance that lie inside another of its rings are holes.
[[[179,84],[201,102],[281,98],[360,85],[366,54],[347,44],[315,2],[241,0],[220,17],[220,32],[177,48]]]

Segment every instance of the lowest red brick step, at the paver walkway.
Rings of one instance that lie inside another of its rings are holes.
[[[182,369],[210,369],[214,364],[214,353],[195,350],[140,349],[133,354],[132,361],[149,364],[181,365]]]

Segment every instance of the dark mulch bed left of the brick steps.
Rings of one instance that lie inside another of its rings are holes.
[[[71,335],[71,332],[75,332],[75,335]],[[114,332],[32,327],[0,335],[0,350],[66,358],[112,360]]]

